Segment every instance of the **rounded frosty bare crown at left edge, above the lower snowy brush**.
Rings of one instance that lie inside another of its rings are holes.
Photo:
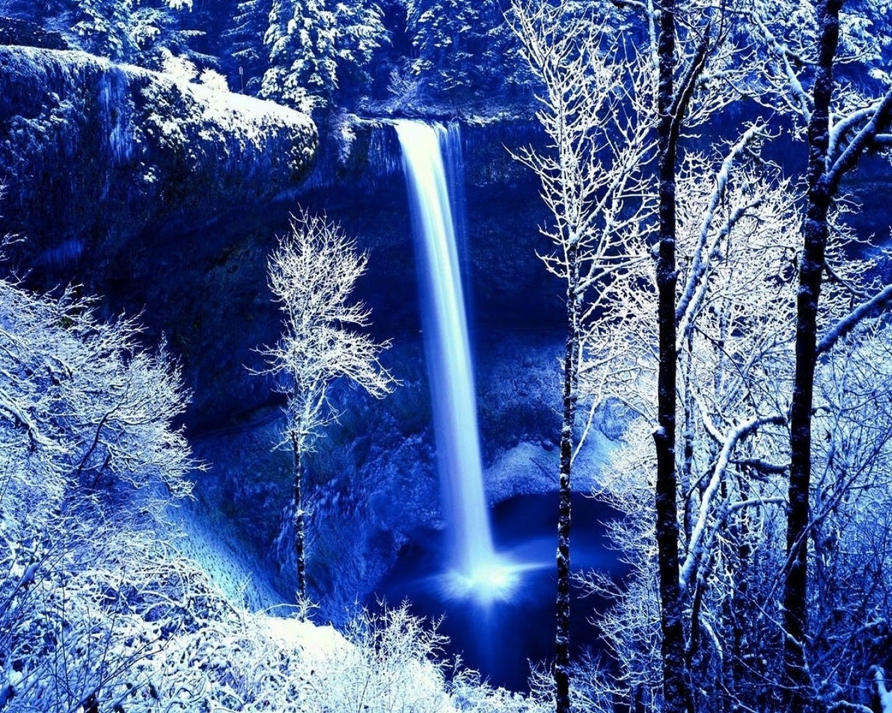
[[[138,348],[133,319],[100,322],[73,289],[33,296],[0,281],[4,453],[48,496],[108,482],[188,494],[179,367]],[[16,454],[16,455],[12,455]]]

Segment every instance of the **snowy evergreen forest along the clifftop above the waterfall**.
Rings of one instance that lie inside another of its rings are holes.
[[[522,99],[529,75],[502,11],[496,0],[0,3],[0,16],[51,33],[44,42],[153,70],[187,63],[294,108],[365,113]]]

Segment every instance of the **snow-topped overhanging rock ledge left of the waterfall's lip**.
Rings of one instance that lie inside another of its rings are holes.
[[[300,184],[317,143],[296,111],[79,52],[0,47],[0,94],[0,215],[28,238],[17,257],[95,291],[147,229]]]

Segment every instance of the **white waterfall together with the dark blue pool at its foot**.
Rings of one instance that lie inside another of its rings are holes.
[[[492,684],[524,690],[530,662],[553,650],[557,497],[522,496],[493,513],[483,486],[476,396],[468,337],[466,282],[460,248],[463,184],[457,127],[395,123],[409,196],[425,363],[431,389],[436,464],[444,532],[418,533],[376,594],[393,604],[413,602],[441,631],[450,652]],[[457,230],[458,225],[458,230]],[[577,568],[615,562],[600,539],[604,512],[578,500],[582,543]],[[577,649],[594,642],[587,624],[591,600],[574,607]]]

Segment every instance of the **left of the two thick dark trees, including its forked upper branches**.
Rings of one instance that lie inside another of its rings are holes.
[[[724,42],[724,8],[697,4],[681,7],[663,0],[654,8],[657,20],[657,451],[655,523],[660,589],[660,627],[663,633],[663,692],[667,711],[693,713],[693,698],[685,666],[683,605],[679,581],[678,481],[676,475],[676,400],[678,376],[677,196],[681,128],[696,123],[697,112],[708,115],[711,103],[727,102],[727,90],[710,92],[710,67],[718,66],[716,49]],[[682,10],[683,17],[682,18]],[[681,40],[681,42],[679,42]],[[707,91],[698,107],[698,87]]]

